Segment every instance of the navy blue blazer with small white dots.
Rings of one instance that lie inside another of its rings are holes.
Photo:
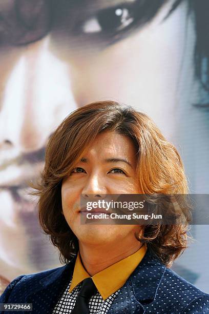
[[[75,260],[74,257],[65,266],[19,276],[8,285],[0,303],[32,303],[32,313],[52,313],[70,281]],[[108,314],[128,313],[206,314],[209,313],[209,295],[166,268],[148,249],[108,310]]]

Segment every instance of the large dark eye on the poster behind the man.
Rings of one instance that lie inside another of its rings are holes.
[[[131,10],[124,7],[103,9],[96,16],[89,18],[83,25],[84,33],[120,31],[134,21]]]

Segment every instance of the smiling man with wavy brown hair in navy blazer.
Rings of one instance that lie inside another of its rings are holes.
[[[34,193],[66,265],[16,278],[0,302],[46,314],[209,313],[209,296],[168,268],[187,224],[81,224],[82,198],[186,192],[178,151],[147,115],[111,101],[75,110],[51,136]]]

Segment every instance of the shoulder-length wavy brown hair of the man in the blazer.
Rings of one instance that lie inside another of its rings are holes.
[[[176,148],[144,113],[131,106],[102,101],[83,106],[69,114],[55,130],[46,147],[46,162],[33,195],[38,195],[40,226],[59,249],[61,263],[78,252],[78,239],[61,213],[61,184],[91,145],[97,134],[114,131],[129,136],[137,147],[136,178],[144,194],[185,194],[188,191],[184,167]],[[188,224],[145,225],[138,241],[164,265],[187,247]]]

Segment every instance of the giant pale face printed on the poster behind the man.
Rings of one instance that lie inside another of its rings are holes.
[[[0,10],[8,3],[14,2],[2,1]],[[23,3],[24,8],[29,5]],[[187,60],[186,74],[192,68],[193,24],[187,2],[162,22],[172,6],[169,1],[151,22],[127,31],[138,18],[133,15],[135,3],[75,1],[64,15],[60,9],[62,23],[57,21],[43,40],[0,48],[0,266],[8,278],[58,261],[41,235],[36,202],[25,188],[43,168],[50,135],[72,110],[115,99],[147,112],[175,139],[182,61]],[[192,77],[186,77],[188,86]],[[17,270],[8,271],[8,265]]]

